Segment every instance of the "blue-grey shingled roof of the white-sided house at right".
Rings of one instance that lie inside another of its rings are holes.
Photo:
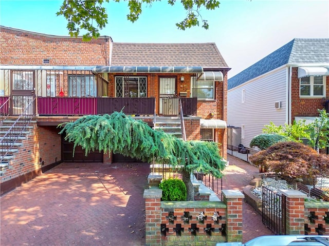
[[[286,64],[329,63],[329,38],[295,38],[228,79],[228,90]]]

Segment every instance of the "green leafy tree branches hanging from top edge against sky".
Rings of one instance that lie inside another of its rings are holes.
[[[114,0],[120,2],[120,0]],[[142,13],[142,5],[151,7],[153,2],[157,0],[129,0],[128,7],[130,13],[127,14],[127,19],[132,23],[136,22]],[[71,36],[77,37],[82,30],[84,40],[90,40],[100,36],[99,31],[108,23],[108,15],[104,3],[109,0],[64,0],[57,15],[63,15],[67,19],[67,29]],[[176,23],[178,29],[185,30],[194,26],[199,26],[199,21],[202,22],[202,27],[209,28],[207,20],[202,18],[200,11],[202,8],[206,10],[214,10],[220,7],[220,2],[216,0],[199,1],[199,0],[181,0],[180,3],[186,10],[186,17],[179,23]],[[176,0],[168,0],[168,4],[174,6]]]

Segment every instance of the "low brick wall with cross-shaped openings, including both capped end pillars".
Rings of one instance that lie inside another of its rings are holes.
[[[146,245],[211,245],[242,240],[240,191],[223,190],[222,201],[161,201],[162,190],[145,198]]]

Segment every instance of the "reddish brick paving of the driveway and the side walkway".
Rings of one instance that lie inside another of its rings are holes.
[[[242,191],[258,169],[228,160],[223,189]],[[144,245],[149,171],[144,163],[62,163],[1,197],[0,245]],[[243,241],[268,234],[244,202]]]

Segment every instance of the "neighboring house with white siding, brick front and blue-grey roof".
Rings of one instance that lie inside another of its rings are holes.
[[[270,121],[309,122],[328,95],[329,38],[295,38],[228,79],[227,123],[241,130],[241,144],[249,147]]]

